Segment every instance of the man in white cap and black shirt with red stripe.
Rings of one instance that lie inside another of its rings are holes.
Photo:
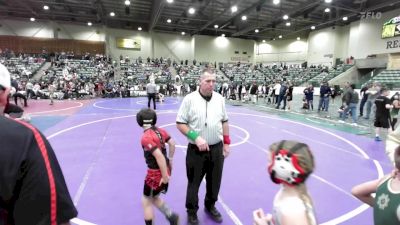
[[[10,87],[10,75],[0,64],[0,112]],[[0,127],[0,224],[69,225],[78,213],[46,137],[1,114]]]

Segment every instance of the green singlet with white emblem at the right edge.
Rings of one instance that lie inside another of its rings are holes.
[[[379,185],[374,205],[375,225],[400,224],[400,192],[394,193],[389,187],[392,178]]]

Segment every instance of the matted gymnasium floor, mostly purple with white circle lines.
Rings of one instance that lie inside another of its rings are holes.
[[[159,127],[177,143],[167,195],[186,224],[186,138],[175,126],[180,98],[157,105]],[[140,146],[142,129],[135,115],[145,98],[62,101],[30,100],[26,112],[50,140],[79,210],[74,224],[144,224],[141,195],[146,165]],[[314,103],[314,105],[316,105]],[[351,127],[307,113],[277,111],[260,105],[228,104],[231,155],[225,161],[217,207],[223,224],[252,224],[252,211],[271,210],[278,186],[266,171],[267,147],[293,139],[307,143],[316,170],[307,185],[319,224],[372,225],[372,210],[352,197],[351,187],[391,170],[384,142],[375,142],[363,126]],[[201,224],[215,224],[203,212],[204,184],[198,213]],[[155,224],[168,224],[156,213]]]

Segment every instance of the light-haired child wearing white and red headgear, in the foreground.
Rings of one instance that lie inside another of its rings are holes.
[[[313,204],[304,184],[314,170],[309,147],[296,141],[280,141],[270,146],[271,180],[281,184],[275,195],[272,215],[262,209],[253,212],[255,225],[316,225]]]

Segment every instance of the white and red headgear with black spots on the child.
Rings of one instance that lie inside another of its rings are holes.
[[[290,186],[303,183],[309,173],[299,165],[296,151],[303,147],[307,147],[303,143],[298,143],[290,150],[283,149],[286,141],[281,141],[278,145],[278,150],[272,155],[272,163],[268,167],[268,172],[271,175],[271,180],[276,183],[285,183]]]

